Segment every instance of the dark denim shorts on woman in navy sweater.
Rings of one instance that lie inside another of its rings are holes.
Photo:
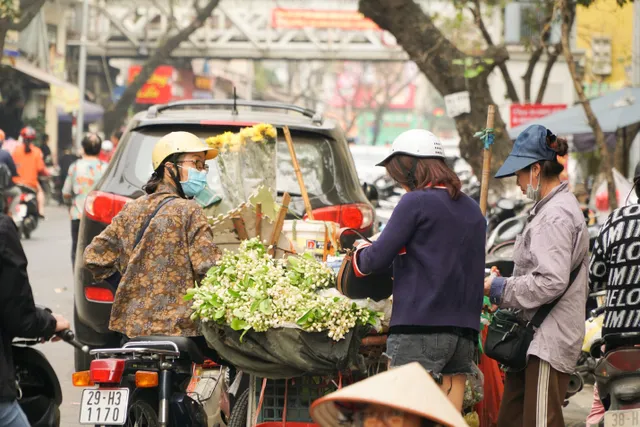
[[[391,367],[419,362],[434,378],[473,373],[477,343],[447,332],[392,334],[387,339]]]

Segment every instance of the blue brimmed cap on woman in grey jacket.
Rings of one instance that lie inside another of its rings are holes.
[[[498,170],[496,178],[514,176],[517,171],[536,162],[555,159],[557,153],[547,145],[547,137],[551,141],[555,140],[555,135],[544,126],[532,125],[526,128],[516,138],[513,149]]]

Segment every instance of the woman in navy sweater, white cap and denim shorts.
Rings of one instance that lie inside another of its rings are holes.
[[[380,238],[358,248],[354,269],[393,263],[391,366],[419,362],[461,410],[480,328],[486,221],[431,132],[402,133],[380,165],[407,194]]]

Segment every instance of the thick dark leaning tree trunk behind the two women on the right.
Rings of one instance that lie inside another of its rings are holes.
[[[429,79],[441,95],[469,91],[471,112],[455,118],[460,135],[460,152],[476,173],[482,170],[482,143],[474,133],[486,126],[487,106],[493,103],[487,76],[493,67],[465,85],[462,67],[453,60],[464,60],[467,56],[451,43],[413,0],[359,0],[359,9],[378,26],[391,32],[409,57]],[[487,57],[494,65],[504,62],[508,54],[504,48],[490,47]],[[499,112],[496,112],[496,140],[493,147],[495,171],[511,150],[508,134]]]

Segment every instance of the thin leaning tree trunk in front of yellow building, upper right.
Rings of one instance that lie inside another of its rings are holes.
[[[613,181],[613,172],[611,170],[611,157],[609,156],[609,149],[607,148],[604,132],[598,123],[596,115],[593,113],[591,104],[584,94],[582,88],[582,82],[578,77],[578,71],[576,69],[576,63],[573,60],[573,53],[571,52],[571,45],[569,44],[569,32],[571,31],[571,24],[573,17],[575,16],[575,4],[570,4],[569,0],[558,0],[558,8],[562,13],[562,52],[564,58],[569,66],[569,73],[571,74],[571,80],[573,86],[578,94],[578,99],[584,108],[584,114],[587,116],[587,122],[593,130],[596,137],[596,145],[600,149],[600,171],[607,179],[607,188],[609,190],[609,208],[611,210],[618,207],[618,200],[616,198],[616,186]]]

